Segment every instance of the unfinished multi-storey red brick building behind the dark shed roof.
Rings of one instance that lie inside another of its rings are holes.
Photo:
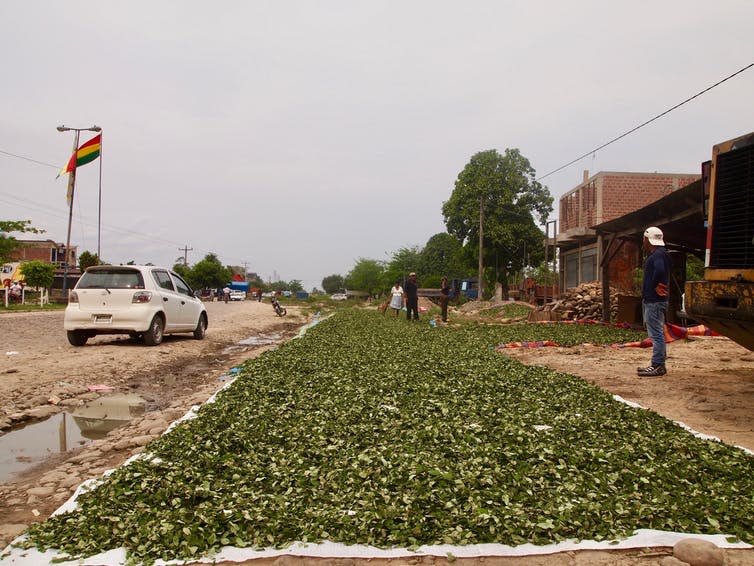
[[[698,180],[698,174],[626,173],[601,171],[589,177],[560,199],[560,226],[556,245],[560,253],[561,289],[601,280],[598,224],[620,218]],[[611,259],[611,285],[634,290],[634,270],[639,248],[624,245]]]

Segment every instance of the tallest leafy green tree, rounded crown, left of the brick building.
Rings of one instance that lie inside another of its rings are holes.
[[[536,180],[518,149],[506,149],[505,155],[490,149],[473,155],[458,174],[442,213],[448,233],[477,259],[482,216],[481,259],[485,266],[494,266],[487,274],[507,286],[508,274],[523,268],[525,257],[533,260],[529,265],[539,261],[544,238],[539,225],[547,221],[552,203],[549,190]]]

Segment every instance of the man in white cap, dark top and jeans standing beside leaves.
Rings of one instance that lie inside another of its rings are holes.
[[[671,262],[665,249],[662,230],[650,226],[644,230],[644,251],[649,255],[644,262],[644,280],[641,285],[644,325],[652,339],[652,361],[648,367],[639,368],[639,377],[665,375],[665,313],[668,310],[668,285]]]

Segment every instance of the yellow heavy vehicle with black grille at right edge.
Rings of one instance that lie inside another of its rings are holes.
[[[686,283],[686,312],[754,351],[754,132],[712,148],[704,217],[704,281]]]

